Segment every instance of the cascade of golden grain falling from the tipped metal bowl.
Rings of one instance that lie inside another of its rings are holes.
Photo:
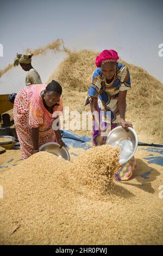
[[[102,145],[91,148],[77,157],[73,162],[71,171],[77,179],[76,182],[81,186],[89,187],[89,192],[91,189],[93,193],[108,193],[112,176],[120,167],[119,161],[119,148]]]

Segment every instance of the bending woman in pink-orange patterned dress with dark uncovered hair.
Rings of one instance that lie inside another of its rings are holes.
[[[60,129],[52,129],[52,123],[63,111],[62,88],[56,81],[47,86],[33,84],[17,93],[14,101],[14,123],[23,159],[37,153],[47,142],[64,146]]]

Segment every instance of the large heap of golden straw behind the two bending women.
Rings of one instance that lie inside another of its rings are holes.
[[[97,55],[98,52],[88,50],[70,53],[47,81],[56,79],[61,83],[64,105],[70,106],[71,110],[80,113],[84,110]],[[133,123],[140,141],[163,143],[162,83],[142,68],[120,61],[128,66],[131,78],[131,89],[127,93],[127,120]],[[90,110],[89,106],[85,110]]]

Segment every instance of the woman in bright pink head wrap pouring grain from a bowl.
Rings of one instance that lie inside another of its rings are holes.
[[[95,146],[106,142],[107,133],[121,125],[126,131],[132,124],[126,121],[126,95],[130,89],[130,74],[126,65],[118,62],[118,53],[104,50],[96,58],[97,69],[93,72],[86,104],[90,103],[93,115]],[[96,116],[95,113],[98,113]],[[128,180],[136,166],[134,158],[120,169],[117,179]]]

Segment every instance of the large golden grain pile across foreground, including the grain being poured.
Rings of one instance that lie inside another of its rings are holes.
[[[40,152],[2,173],[0,243],[161,244],[160,199],[112,180],[118,154],[104,145],[72,163]],[[111,193],[103,186],[108,182]]]

